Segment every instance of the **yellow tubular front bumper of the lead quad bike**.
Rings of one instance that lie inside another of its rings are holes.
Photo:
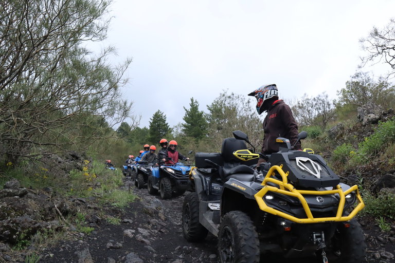
[[[282,180],[272,177],[274,175],[275,171],[277,171],[280,174]],[[340,185],[336,185],[336,189],[328,190],[328,191],[296,190],[292,184],[288,183],[287,174],[285,174],[284,171],[282,170],[282,168],[278,165],[272,166],[270,168],[270,170],[267,172],[266,177],[262,182],[263,188],[254,196],[258,202],[259,208],[262,211],[283,217],[285,219],[288,219],[288,220],[290,220],[292,222],[296,222],[296,223],[321,223],[321,222],[334,222],[334,221],[335,222],[349,221],[358,212],[360,212],[365,206],[364,202],[362,201],[361,195],[358,192],[357,185],[352,186],[350,189],[348,189],[345,192],[343,192],[342,187]],[[271,185],[267,185],[267,182],[277,184],[277,185],[279,185],[280,188],[271,186]],[[356,198],[358,199],[359,203],[348,216],[342,216],[344,204],[345,204],[345,198],[348,194],[350,194],[353,191],[355,191]],[[301,205],[303,206],[303,209],[307,215],[307,218],[297,218],[297,217],[294,217],[292,215],[286,214],[284,212],[278,211],[274,208],[267,206],[265,201],[263,200],[263,197],[268,192],[275,192],[278,194],[288,195],[291,197],[298,198]],[[303,197],[303,195],[317,195],[317,196],[319,195],[319,196],[321,196],[321,195],[333,195],[333,194],[338,194],[340,197],[336,216],[335,217],[314,218],[311,213],[311,210],[309,208],[309,205],[308,205],[306,199]]]

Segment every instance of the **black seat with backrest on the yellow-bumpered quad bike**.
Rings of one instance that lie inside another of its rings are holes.
[[[224,165],[219,169],[221,178],[225,181],[234,178],[240,181],[253,181],[254,169],[241,164],[241,160],[233,155],[235,151],[246,149],[245,141],[235,138],[226,138],[222,141],[221,156]]]

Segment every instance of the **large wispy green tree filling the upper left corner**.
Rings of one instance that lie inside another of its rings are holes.
[[[0,3],[0,153],[9,160],[87,147],[130,115],[132,103],[119,98],[131,59],[113,67],[113,48],[86,48],[105,39],[110,4]]]

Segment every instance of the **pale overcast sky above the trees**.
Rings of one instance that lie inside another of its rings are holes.
[[[280,99],[331,99],[357,70],[358,40],[395,17],[395,1],[114,0],[108,43],[133,57],[124,94],[149,127],[159,109],[174,126],[190,98],[245,95],[275,83]],[[378,76],[388,66],[375,66]]]

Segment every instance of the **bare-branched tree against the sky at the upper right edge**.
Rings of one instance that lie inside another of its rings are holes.
[[[368,54],[362,57],[362,65],[371,62],[373,64],[384,62],[391,66],[388,76],[395,74],[395,20],[390,22],[382,29],[376,27],[369,32],[367,37],[360,39],[362,50]]]

